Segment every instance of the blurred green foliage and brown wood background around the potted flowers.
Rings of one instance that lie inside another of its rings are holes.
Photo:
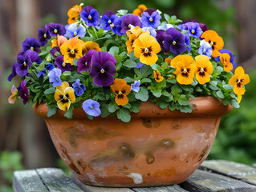
[[[7,82],[10,66],[27,37],[37,37],[48,22],[67,23],[67,10],[83,2],[104,14],[139,4],[177,15],[182,20],[203,22],[224,39],[225,48],[236,55],[235,62],[250,75],[241,108],[222,121],[208,159],[228,159],[249,165],[256,163],[256,1],[254,0],[0,0],[0,192],[12,191],[12,171],[35,167],[63,166],[47,127],[22,102],[10,105],[7,98],[15,83]],[[18,85],[18,82],[15,83]],[[14,152],[17,151],[17,152]]]

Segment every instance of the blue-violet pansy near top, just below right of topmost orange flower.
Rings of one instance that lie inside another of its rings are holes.
[[[141,25],[157,28],[161,25],[161,18],[161,15],[157,11],[152,12],[152,14],[148,14],[148,11],[146,10],[141,15]]]

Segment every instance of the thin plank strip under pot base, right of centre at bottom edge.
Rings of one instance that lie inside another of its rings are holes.
[[[184,190],[178,185],[132,188],[132,190],[135,192],[188,192],[188,190]]]

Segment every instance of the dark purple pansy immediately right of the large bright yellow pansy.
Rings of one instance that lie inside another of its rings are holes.
[[[165,50],[170,50],[173,54],[182,54],[185,51],[185,38],[179,30],[170,28],[165,31],[168,34],[165,38]]]

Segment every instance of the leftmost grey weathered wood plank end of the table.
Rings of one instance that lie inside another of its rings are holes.
[[[13,189],[15,192],[48,192],[35,170],[14,171]]]

